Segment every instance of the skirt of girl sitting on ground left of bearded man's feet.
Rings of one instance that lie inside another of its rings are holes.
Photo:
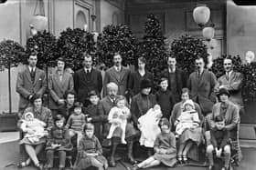
[[[108,161],[103,155],[97,155],[97,156],[85,156],[78,158],[79,160],[76,161],[75,165],[75,170],[80,170],[80,169],[86,169],[90,166],[92,166],[92,159],[95,158],[99,162],[101,162],[102,165],[107,166]]]

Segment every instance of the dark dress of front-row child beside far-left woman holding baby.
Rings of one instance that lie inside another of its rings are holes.
[[[51,145],[61,145],[57,148],[52,148]],[[70,151],[73,146],[70,142],[69,130],[65,127],[59,128],[54,126],[50,129],[48,133],[48,140],[46,150],[56,150],[56,151]]]

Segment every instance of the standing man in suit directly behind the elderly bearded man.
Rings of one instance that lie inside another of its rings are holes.
[[[119,53],[113,55],[113,66],[105,73],[103,95],[107,95],[107,85],[110,82],[118,85],[118,95],[126,95],[128,92],[128,78],[130,70],[122,65],[122,56]]]

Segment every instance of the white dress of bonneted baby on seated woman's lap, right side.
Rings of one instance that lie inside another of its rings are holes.
[[[186,129],[198,127],[199,123],[200,120],[196,110],[182,112],[175,122],[176,135],[182,135]]]

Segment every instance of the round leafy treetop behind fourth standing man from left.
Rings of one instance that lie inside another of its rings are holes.
[[[123,57],[123,65],[133,65],[136,45],[136,38],[127,25],[106,25],[97,41],[96,55],[99,64],[111,67],[112,56],[119,52]]]

